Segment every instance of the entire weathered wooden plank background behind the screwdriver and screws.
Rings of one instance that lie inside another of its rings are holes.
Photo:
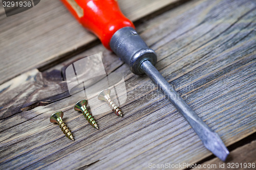
[[[230,150],[225,168],[255,163],[256,2],[118,2],[156,51],[156,68]],[[10,17],[1,8],[0,20],[1,169],[222,163],[151,80],[132,74],[60,1],[41,1]],[[96,53],[106,72],[123,73],[127,89],[123,118],[112,111],[95,115],[100,130],[74,111],[79,98],[69,94],[63,76],[70,63]],[[64,112],[74,142],[49,122],[57,110]]]

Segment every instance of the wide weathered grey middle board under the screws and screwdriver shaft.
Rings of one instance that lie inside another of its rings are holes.
[[[158,54],[158,70],[226,145],[256,131],[255,8],[253,1],[192,1],[138,27]],[[78,99],[68,94],[60,71],[99,51],[106,70],[123,72],[127,101],[123,118],[111,111],[96,115],[96,131],[74,112]],[[1,85],[6,99],[0,110],[1,168],[145,169],[148,163],[193,164],[211,155],[156,86],[116,59],[97,45],[45,72],[31,70]],[[49,122],[56,110],[64,111],[75,142]]]

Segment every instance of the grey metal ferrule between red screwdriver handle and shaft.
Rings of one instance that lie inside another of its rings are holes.
[[[144,74],[140,68],[145,60],[153,65],[157,62],[157,55],[149,48],[138,33],[132,27],[124,27],[118,30],[111,38],[111,50],[126,64],[136,75]]]

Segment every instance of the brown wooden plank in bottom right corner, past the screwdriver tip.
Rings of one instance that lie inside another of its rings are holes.
[[[201,164],[201,167],[208,166],[209,168],[193,168],[195,169],[213,169],[216,165],[216,169],[254,169],[256,163],[256,141],[252,141],[242,147],[237,148],[230,152],[230,157],[227,161],[221,162],[217,158],[209,160]],[[232,156],[232,157],[231,157]],[[254,164],[254,165],[253,165]],[[254,166],[254,168],[253,168]],[[212,168],[210,168],[212,167]]]

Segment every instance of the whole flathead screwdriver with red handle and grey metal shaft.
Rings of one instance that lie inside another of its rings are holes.
[[[226,160],[229,151],[221,138],[186,104],[155,68],[155,51],[138,35],[133,22],[122,14],[116,0],[60,1],[84,28],[94,33],[108,50],[128,64],[134,74],[146,74],[183,115],[204,146],[222,161]]]

